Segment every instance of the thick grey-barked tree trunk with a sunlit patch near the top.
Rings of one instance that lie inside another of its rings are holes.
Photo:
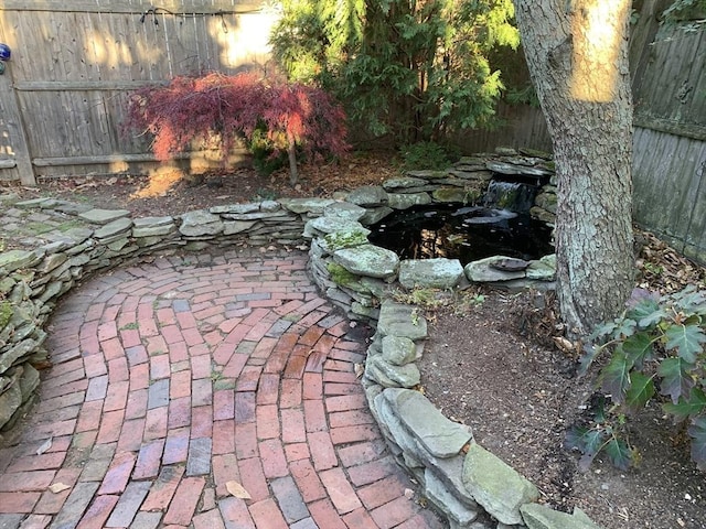
[[[633,287],[629,0],[515,0],[558,176],[557,293],[569,335]]]

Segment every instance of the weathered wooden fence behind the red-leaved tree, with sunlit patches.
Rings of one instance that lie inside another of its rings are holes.
[[[4,0],[0,42],[12,58],[0,75],[0,180],[150,166],[148,140],[122,131],[130,90],[267,71],[276,19],[261,0]]]

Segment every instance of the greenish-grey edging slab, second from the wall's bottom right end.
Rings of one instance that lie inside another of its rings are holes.
[[[520,508],[536,501],[537,487],[478,443],[471,443],[463,461],[463,485],[499,521],[522,523]]]

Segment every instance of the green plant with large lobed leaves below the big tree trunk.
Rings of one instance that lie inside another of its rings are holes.
[[[575,430],[567,443],[592,461],[606,451],[618,466],[635,462],[637,451],[621,438],[614,418],[644,409],[659,392],[662,408],[685,423],[692,460],[706,471],[706,295],[694,285],[660,296],[635,289],[624,314],[600,325],[589,337],[579,373],[608,354],[598,386],[613,406],[592,427]],[[612,419],[611,419],[612,417]],[[620,421],[619,421],[620,422]]]

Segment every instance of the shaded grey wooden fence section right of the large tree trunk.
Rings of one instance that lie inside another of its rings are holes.
[[[670,3],[645,0],[632,39],[633,216],[706,263],[706,13],[661,25]]]

